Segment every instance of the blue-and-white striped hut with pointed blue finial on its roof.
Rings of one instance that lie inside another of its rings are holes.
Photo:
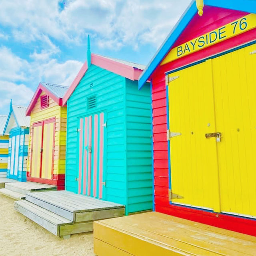
[[[9,134],[7,178],[26,181],[28,161],[28,137],[30,118],[26,107],[10,103],[10,112],[4,126],[4,135]]]

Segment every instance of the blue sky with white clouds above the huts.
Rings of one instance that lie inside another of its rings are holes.
[[[70,86],[91,52],[148,64],[191,0],[0,0],[0,114],[39,82]]]

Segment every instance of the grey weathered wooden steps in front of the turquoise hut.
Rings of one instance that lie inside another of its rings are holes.
[[[14,202],[14,208],[56,236],[90,232],[93,221],[124,216],[124,205],[69,191],[26,194],[26,200]]]

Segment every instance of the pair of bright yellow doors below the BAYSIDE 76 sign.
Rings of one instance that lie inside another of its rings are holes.
[[[169,74],[172,203],[256,218],[254,51]]]

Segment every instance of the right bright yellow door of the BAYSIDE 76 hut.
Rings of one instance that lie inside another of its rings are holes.
[[[221,211],[256,216],[256,44],[212,60]]]

